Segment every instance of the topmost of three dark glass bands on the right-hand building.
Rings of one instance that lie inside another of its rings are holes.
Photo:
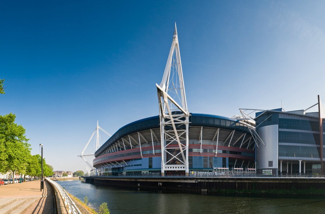
[[[309,121],[309,120],[279,118],[279,128],[319,132],[319,122]]]

